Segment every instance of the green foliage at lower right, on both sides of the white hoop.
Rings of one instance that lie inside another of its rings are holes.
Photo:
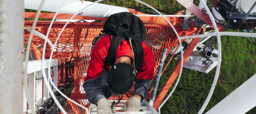
[[[213,96],[204,112],[210,110],[255,74],[255,50],[256,47],[245,37],[222,37],[222,64],[220,74]],[[177,61],[173,60],[167,67],[160,79],[158,92],[164,86],[176,64]],[[180,82],[167,103],[161,108],[161,113],[197,113],[210,91],[215,70],[216,68],[210,73],[205,74],[183,68]],[[175,82],[172,84],[172,88],[174,84]],[[256,108],[247,113],[255,112]]]

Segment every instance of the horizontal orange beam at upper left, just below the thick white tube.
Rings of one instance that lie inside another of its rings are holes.
[[[36,17],[37,12],[24,12],[24,18],[34,18]],[[39,18],[43,19],[52,19],[54,17],[55,13],[47,13],[47,12],[41,12]],[[70,19],[73,15],[70,14],[64,14],[59,13],[56,17],[56,19]],[[87,16],[75,16],[73,18],[74,20],[107,20],[106,18],[95,18],[95,17],[87,17]]]

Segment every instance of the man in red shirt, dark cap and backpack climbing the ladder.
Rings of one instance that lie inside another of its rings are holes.
[[[114,113],[107,100],[129,91],[135,81],[133,96],[124,104],[124,111],[138,111],[147,97],[154,78],[154,53],[143,42],[143,22],[130,12],[115,13],[103,26],[103,35],[92,42],[91,60],[83,84],[90,103],[98,113]]]

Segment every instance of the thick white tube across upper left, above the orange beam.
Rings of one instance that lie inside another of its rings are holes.
[[[43,6],[43,11],[51,11],[56,12],[59,7],[61,7],[64,0],[57,1],[45,1],[45,5]],[[35,9],[37,10],[40,4],[40,1],[37,0],[25,0],[25,8],[26,9]],[[129,12],[127,8],[111,6],[106,4],[97,4],[95,6],[89,7],[85,10],[81,10],[81,7],[85,7],[92,2],[88,1],[79,1],[79,0],[68,0],[63,7],[61,8],[59,13],[67,13],[74,14],[74,12],[80,13],[80,16],[89,16],[89,17],[99,17],[99,18],[107,18],[110,15],[118,12]]]

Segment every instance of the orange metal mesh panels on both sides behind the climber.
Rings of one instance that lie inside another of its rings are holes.
[[[25,26],[29,26],[31,23],[25,23]],[[39,23],[37,25],[38,31],[46,35],[50,23]],[[57,36],[60,34],[64,23],[54,23],[53,27],[49,34],[49,39],[52,44],[55,43]],[[147,38],[144,41],[145,44],[152,49],[154,52],[154,67],[155,71],[160,62],[161,53],[163,48],[167,48],[167,53],[173,48],[173,46],[177,46],[178,40],[176,35],[173,33],[170,27],[159,26],[159,25],[145,25]],[[175,26],[178,30],[178,33],[181,32],[179,30],[179,24]],[[75,59],[75,64],[72,72],[72,76],[74,76],[74,93],[71,95],[71,98],[74,101],[78,102],[79,104],[89,107],[89,102],[86,98],[85,91],[83,89],[83,83],[85,82],[85,76],[87,75],[87,68],[90,61],[90,52],[91,52],[91,42],[92,40],[99,36],[101,30],[103,29],[103,23],[82,23],[82,22],[73,22],[69,23],[67,27],[64,29],[60,39],[57,42],[57,48],[54,49],[54,56],[53,58],[73,58]],[[25,34],[25,40],[27,34]],[[33,37],[33,40],[39,40],[37,36]],[[42,45],[42,39],[41,45]],[[37,42],[37,45],[40,45],[40,42]],[[41,48],[42,49],[42,48]],[[50,53],[51,48],[50,45],[46,45],[46,53]],[[46,54],[46,58],[49,55]],[[64,67],[62,67],[64,69]],[[65,70],[63,73],[60,73],[59,68],[59,76],[61,74],[65,74]],[[59,79],[63,78],[64,75],[59,77]],[[132,91],[129,92],[129,95],[132,95]],[[124,99],[127,99],[127,96],[124,95]],[[117,100],[118,97],[111,97],[110,99]],[[74,103],[67,101],[65,104],[64,109],[68,113],[86,113],[86,111]]]

